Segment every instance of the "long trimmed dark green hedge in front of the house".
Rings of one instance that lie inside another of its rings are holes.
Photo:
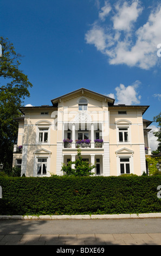
[[[161,212],[158,176],[2,177],[0,215]]]

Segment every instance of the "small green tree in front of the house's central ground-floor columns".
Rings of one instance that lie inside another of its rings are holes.
[[[78,149],[78,159],[75,161],[68,162],[67,166],[65,163],[62,165],[62,171],[68,176],[89,176],[93,175],[92,169],[95,168],[94,164],[89,164],[87,161],[82,160],[81,150]],[[74,164],[74,168],[72,168]]]

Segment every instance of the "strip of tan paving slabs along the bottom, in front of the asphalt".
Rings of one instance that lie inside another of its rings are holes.
[[[0,235],[0,245],[161,245],[161,233]]]

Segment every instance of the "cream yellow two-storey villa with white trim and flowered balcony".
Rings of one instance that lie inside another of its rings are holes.
[[[78,147],[83,159],[95,164],[95,175],[146,172],[151,121],[143,114],[149,106],[114,105],[114,99],[85,88],[51,103],[21,107],[13,154],[21,175],[63,175],[62,163],[74,161]]]

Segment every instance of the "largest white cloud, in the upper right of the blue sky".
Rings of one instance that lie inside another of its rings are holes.
[[[99,19],[85,35],[87,44],[93,44],[113,65],[126,64],[146,70],[156,65],[159,60],[157,45],[161,42],[161,6],[151,9],[147,22],[138,29],[135,25],[143,11],[139,0],[131,4],[125,1],[122,6],[119,2],[112,10],[110,8],[111,5],[105,2]]]

